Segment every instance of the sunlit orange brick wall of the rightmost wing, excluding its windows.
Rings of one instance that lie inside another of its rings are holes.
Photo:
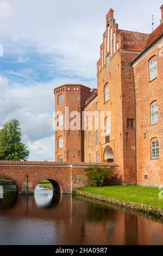
[[[163,40],[162,40],[163,42]],[[140,185],[163,185],[163,57],[160,56],[160,46],[149,49],[146,55],[134,65],[136,92],[136,141],[137,141],[137,183]],[[158,76],[149,81],[149,60],[157,59]],[[143,68],[142,68],[143,67]],[[158,123],[151,124],[151,103],[158,102]],[[159,158],[152,159],[151,140],[159,140]],[[148,179],[145,179],[145,176]]]

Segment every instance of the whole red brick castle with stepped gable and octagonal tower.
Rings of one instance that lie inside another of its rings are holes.
[[[151,34],[119,29],[110,9],[97,89],[82,84],[54,89],[55,111],[61,112],[58,126],[63,128],[55,131],[56,161],[116,162],[123,184],[163,185],[163,5],[160,9],[160,26]],[[65,107],[79,112],[85,130],[65,129]],[[83,111],[89,113],[86,120]],[[89,129],[95,111],[105,113],[105,135],[95,124]]]

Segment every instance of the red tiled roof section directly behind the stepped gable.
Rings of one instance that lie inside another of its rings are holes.
[[[120,31],[123,36],[123,49],[126,51],[142,52],[149,39],[149,34],[133,32],[133,31]]]

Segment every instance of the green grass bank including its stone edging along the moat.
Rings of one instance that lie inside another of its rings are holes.
[[[163,199],[159,193],[159,188],[140,186],[85,187],[77,191],[80,196],[163,216]]]

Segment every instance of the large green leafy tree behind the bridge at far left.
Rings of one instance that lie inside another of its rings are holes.
[[[0,160],[27,160],[29,150],[21,142],[22,131],[16,119],[5,123],[0,130]]]

